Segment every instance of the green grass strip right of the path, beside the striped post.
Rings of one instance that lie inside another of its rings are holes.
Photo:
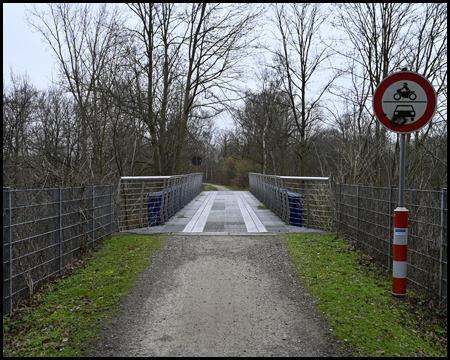
[[[447,356],[447,319],[392,282],[336,234],[288,235],[288,252],[315,306],[350,356]]]

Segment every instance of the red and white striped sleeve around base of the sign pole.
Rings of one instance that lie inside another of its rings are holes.
[[[392,294],[406,295],[406,269],[408,256],[408,210],[394,210],[394,263],[392,266]]]

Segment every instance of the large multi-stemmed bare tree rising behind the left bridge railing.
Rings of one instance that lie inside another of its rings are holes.
[[[154,146],[155,172],[173,174],[180,171],[193,111],[219,112],[221,95],[235,88],[257,11],[248,4],[128,6],[139,19],[134,34],[143,51],[136,53],[136,63],[143,65],[136,83],[140,86],[138,72],[144,74],[139,111]]]

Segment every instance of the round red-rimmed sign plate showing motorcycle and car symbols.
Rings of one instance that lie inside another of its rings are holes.
[[[412,71],[400,71],[385,78],[373,96],[377,119],[389,130],[410,133],[425,126],[437,106],[433,85]]]

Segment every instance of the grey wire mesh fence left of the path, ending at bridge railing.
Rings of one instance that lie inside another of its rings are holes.
[[[113,232],[113,191],[3,188],[3,315]]]

